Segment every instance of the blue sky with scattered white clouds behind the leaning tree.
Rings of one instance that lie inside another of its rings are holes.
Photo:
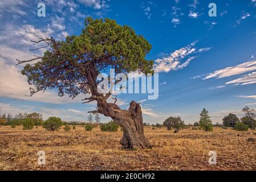
[[[46,5],[46,17],[37,16],[37,5]],[[217,5],[217,17],[208,15],[208,5]],[[79,35],[84,18],[110,18],[131,26],[143,35],[152,50],[159,73],[160,96],[120,94],[118,104],[140,101],[144,122],[162,123],[181,116],[186,123],[198,121],[201,110],[209,110],[213,122],[244,106],[256,107],[256,1],[1,1],[0,2],[0,113],[40,112],[66,121],[86,121],[95,104],[83,105],[83,96],[71,100],[54,90],[32,98],[26,77],[15,60],[30,59],[30,40],[54,36],[64,40]],[[42,52],[36,52],[37,55]],[[110,118],[101,117],[103,122]]]

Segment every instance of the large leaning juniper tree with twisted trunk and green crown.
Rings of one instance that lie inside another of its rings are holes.
[[[79,36],[68,36],[59,42],[54,38],[40,38],[38,42],[46,43],[47,51],[42,57],[18,61],[27,63],[22,74],[27,76],[31,96],[39,91],[58,89],[58,95],[75,98],[78,94],[90,94],[84,103],[96,101],[95,111],[111,117],[123,127],[123,138],[120,143],[124,148],[151,148],[152,145],[144,136],[141,107],[135,101],[128,110],[120,109],[115,103],[109,103],[111,93],[97,91],[97,75],[109,68],[116,73],[139,71],[153,73],[153,61],[145,59],[151,50],[151,44],[136,35],[128,26],[120,26],[115,20],[85,20],[85,28]],[[35,64],[28,62],[38,60]]]

